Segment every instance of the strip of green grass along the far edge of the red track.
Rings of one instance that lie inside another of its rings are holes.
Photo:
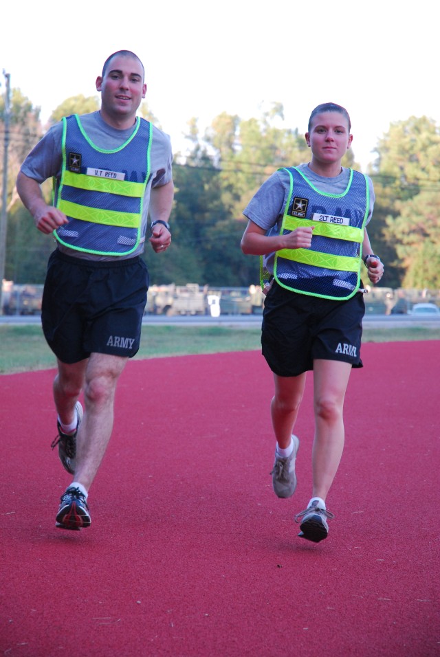
[[[223,326],[142,327],[140,350],[135,359],[161,356],[224,353],[260,349],[259,328]],[[362,342],[401,342],[440,339],[440,328],[364,327]],[[52,369],[55,358],[47,346],[41,326],[0,326],[0,374]]]

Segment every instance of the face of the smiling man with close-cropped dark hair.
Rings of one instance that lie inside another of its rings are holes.
[[[96,78],[96,89],[101,92],[104,116],[134,121],[146,93],[142,64],[134,57],[116,55],[109,61],[104,77]]]

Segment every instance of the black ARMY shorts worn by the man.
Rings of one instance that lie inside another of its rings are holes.
[[[147,289],[148,271],[138,256],[95,262],[54,251],[41,309],[47,344],[67,364],[91,353],[133,357]]]

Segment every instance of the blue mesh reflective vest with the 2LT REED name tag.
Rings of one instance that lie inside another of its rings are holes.
[[[350,170],[342,194],[320,192],[296,167],[285,168],[290,189],[281,234],[314,227],[309,249],[281,249],[274,258],[274,278],[294,292],[345,300],[360,286],[364,226],[369,215],[366,177]]]

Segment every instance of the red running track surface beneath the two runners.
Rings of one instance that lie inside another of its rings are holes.
[[[293,522],[311,375],[298,489],[278,500],[258,352],[131,361],[80,532],[54,526],[70,482],[50,449],[54,371],[0,377],[0,654],[439,656],[440,343],[362,349],[320,544]]]

